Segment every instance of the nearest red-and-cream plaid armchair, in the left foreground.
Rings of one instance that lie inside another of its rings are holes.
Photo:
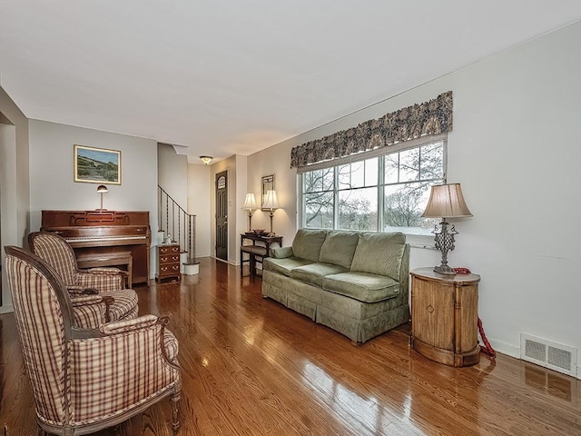
[[[73,303],[54,269],[33,253],[5,247],[6,275],[36,407],[48,433],[100,431],[169,397],[172,430],[179,429],[182,376],[178,342],[167,318],[145,315],[72,326]]]

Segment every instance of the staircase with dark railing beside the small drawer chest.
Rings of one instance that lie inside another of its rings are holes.
[[[170,236],[172,243],[180,245],[182,273],[197,273],[199,263],[196,262],[196,215],[185,212],[160,185],[157,186],[157,198],[159,232],[163,233],[164,238]]]

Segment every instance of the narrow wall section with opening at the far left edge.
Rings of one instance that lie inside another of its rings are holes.
[[[29,233],[28,120],[0,87],[0,239],[5,245],[24,246]],[[4,249],[0,254],[5,267]],[[0,313],[12,312],[12,298],[2,274]]]

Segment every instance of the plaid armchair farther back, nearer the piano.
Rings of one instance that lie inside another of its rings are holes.
[[[66,284],[74,303],[76,326],[90,329],[103,322],[133,320],[137,316],[137,293],[123,289],[126,272],[118,268],[79,270],[73,248],[56,233],[30,233],[28,245]],[[87,301],[87,294],[91,293],[109,298],[102,303]]]

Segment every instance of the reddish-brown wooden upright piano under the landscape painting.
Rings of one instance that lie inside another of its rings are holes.
[[[41,230],[54,232],[77,255],[131,252],[133,283],[148,282],[152,233],[149,212],[43,211]]]

